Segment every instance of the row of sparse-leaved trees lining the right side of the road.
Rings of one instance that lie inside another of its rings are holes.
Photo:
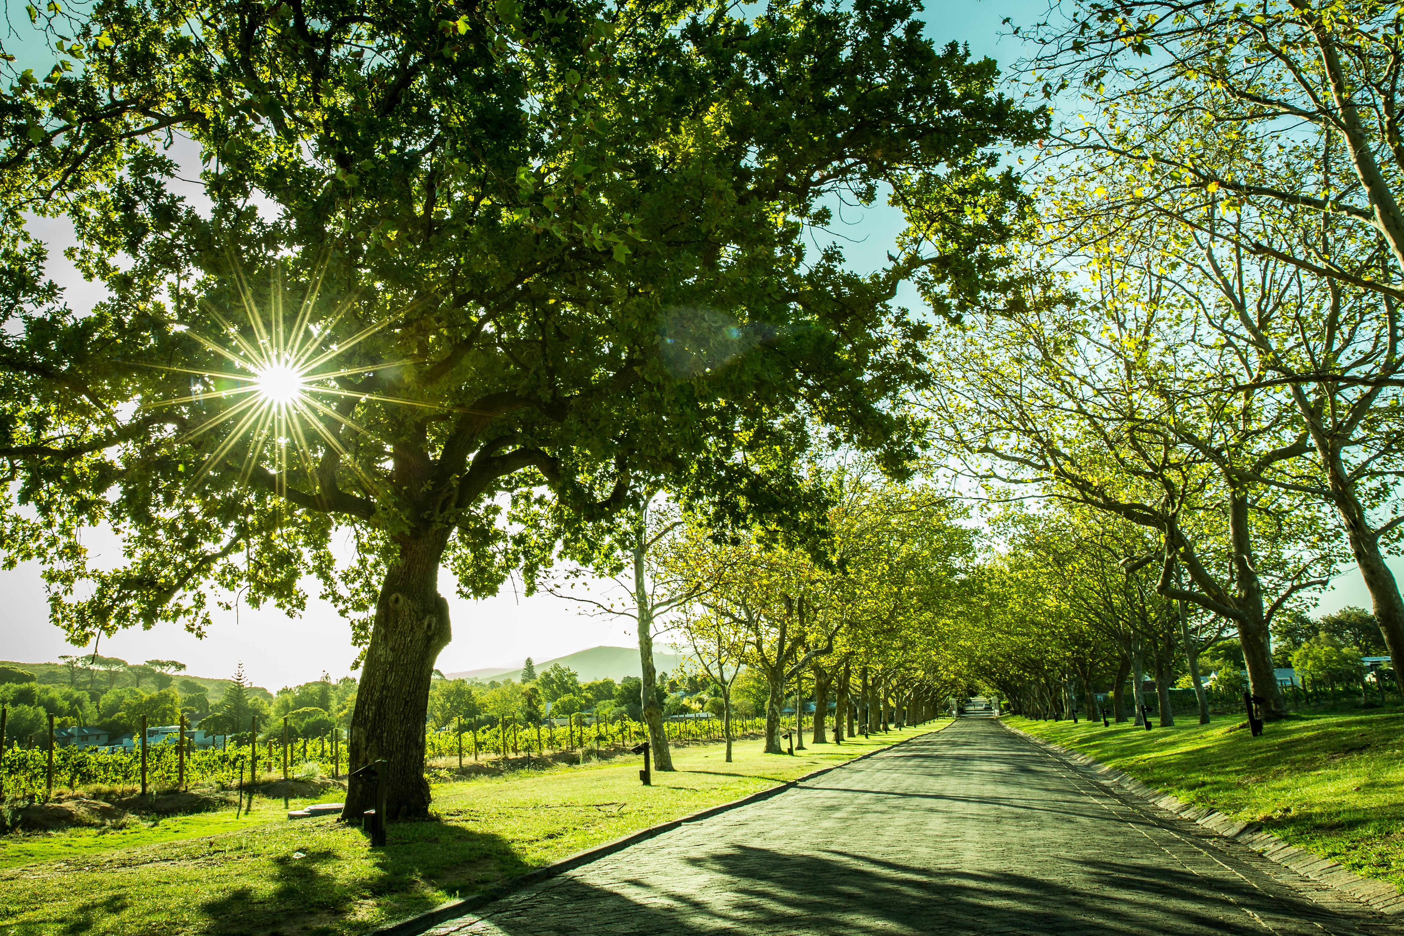
[[[972,488],[1045,505],[990,588],[1071,655],[1029,631],[991,678],[1085,696],[1092,627],[1137,693],[1184,648],[1203,711],[1195,654],[1231,629],[1276,717],[1272,634],[1349,564],[1404,654],[1401,29],[1373,3],[1075,0],[1019,31],[1064,115],[1026,153],[1028,289],[936,333],[913,394]]]

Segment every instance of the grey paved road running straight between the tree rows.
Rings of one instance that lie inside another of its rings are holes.
[[[435,936],[1397,933],[988,717],[623,849]]]

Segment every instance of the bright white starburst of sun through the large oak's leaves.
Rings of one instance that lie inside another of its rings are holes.
[[[253,290],[244,282],[237,265],[233,265],[234,288],[240,297],[246,326],[237,327],[209,302],[199,305],[219,326],[213,335],[201,333],[188,324],[177,328],[188,334],[215,355],[223,358],[232,368],[205,370],[167,365],[147,365],[161,370],[191,375],[191,393],[171,400],[160,400],[145,406],[145,410],[215,401],[218,413],[180,436],[192,442],[216,431],[223,438],[205,459],[191,479],[198,484],[220,464],[239,466],[239,480],[247,481],[250,474],[265,462],[275,477],[279,493],[286,491],[289,472],[302,470],[313,474],[313,445],[320,441],[336,450],[357,477],[368,487],[375,484],[355,464],[337,427],[354,432],[364,429],[354,421],[329,406],[330,397],[352,397],[357,400],[380,400],[406,406],[427,406],[417,400],[389,397],[368,393],[364,389],[344,386],[347,377],[369,376],[373,370],[409,363],[406,361],[340,366],[345,355],[362,341],[373,335],[393,320],[380,319],[355,331],[344,341],[334,341],[336,328],[354,307],[354,296],[340,302],[330,313],[316,317],[317,297],[322,290],[326,264],[319,264],[306,295],[291,321],[284,309],[284,288],[281,269],[275,265],[268,290],[267,307],[260,307]],[[208,389],[205,382],[218,382]],[[234,386],[223,386],[233,383]],[[320,397],[320,399],[319,399]]]

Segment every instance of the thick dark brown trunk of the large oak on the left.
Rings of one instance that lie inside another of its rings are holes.
[[[438,594],[439,559],[448,530],[431,530],[400,543],[400,556],[385,574],[365,651],[355,713],[351,717],[350,766],[386,765],[386,820],[427,817],[430,784],[424,779],[424,717],[430,679],[439,651],[452,640],[448,602]],[[366,775],[347,784],[341,811],[347,821],[375,808],[376,783]]]

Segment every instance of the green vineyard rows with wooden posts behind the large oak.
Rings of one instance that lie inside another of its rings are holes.
[[[731,721],[731,737],[764,730],[762,718]],[[671,742],[720,741],[717,720],[665,721]],[[637,721],[614,724],[524,726],[511,720],[494,727],[463,726],[456,730],[432,731],[425,737],[425,762],[442,758],[491,761],[526,756],[549,756],[571,751],[615,751],[639,744],[647,735]],[[256,756],[257,755],[257,756]],[[260,780],[282,776],[285,747],[279,740],[250,744],[249,735],[234,735],[226,748],[187,751],[184,784],[232,789],[251,782],[254,770]],[[341,776],[345,772],[345,747],[331,735],[303,738],[286,745],[291,776],[306,773]],[[146,751],[146,787],[149,790],[176,789],[181,783],[180,745],[153,744]],[[44,796],[49,789],[49,752],[42,748],[8,748],[0,751],[0,793],[4,796]],[[53,789],[83,790],[91,787],[142,787],[142,752],[108,752],[95,748],[56,748],[53,751]]]

